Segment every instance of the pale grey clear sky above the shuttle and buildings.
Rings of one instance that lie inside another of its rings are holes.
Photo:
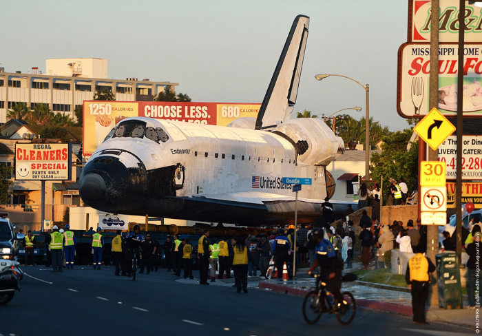
[[[45,59],[98,57],[109,78],[179,83],[192,101],[262,103],[297,14],[310,17],[300,90],[293,112],[370,116],[397,131],[397,51],[407,41],[408,1],[137,0],[1,1],[0,67],[6,72]]]

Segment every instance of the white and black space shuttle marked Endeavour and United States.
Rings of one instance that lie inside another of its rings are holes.
[[[316,222],[335,192],[326,171],[344,151],[318,118],[290,119],[309,18],[295,18],[258,118],[227,127],[132,117],[85,164],[83,202],[109,213],[244,226],[294,222],[295,193],[282,177],[311,178],[298,193],[298,222]]]

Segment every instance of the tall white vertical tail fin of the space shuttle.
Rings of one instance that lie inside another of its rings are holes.
[[[304,15],[298,15],[293,21],[260,107],[255,129],[276,127],[293,112],[300,85],[309,23],[310,19]]]

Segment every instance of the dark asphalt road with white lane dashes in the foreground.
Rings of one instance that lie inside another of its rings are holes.
[[[235,293],[231,284],[218,280],[201,286],[165,269],[139,274],[135,282],[115,277],[112,267],[23,270],[22,291],[0,306],[0,335],[373,336],[389,331],[390,336],[452,336],[471,331],[449,324],[416,326],[406,317],[362,308],[349,326],[338,324],[333,315],[323,315],[311,326],[302,317],[301,297],[257,288]]]

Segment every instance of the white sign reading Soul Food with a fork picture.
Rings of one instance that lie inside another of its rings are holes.
[[[482,35],[481,35],[482,36]],[[439,45],[439,103],[444,116],[457,116],[457,44]],[[482,117],[482,43],[465,45],[463,116]],[[428,114],[430,44],[404,43],[398,53],[397,111],[404,118]]]

